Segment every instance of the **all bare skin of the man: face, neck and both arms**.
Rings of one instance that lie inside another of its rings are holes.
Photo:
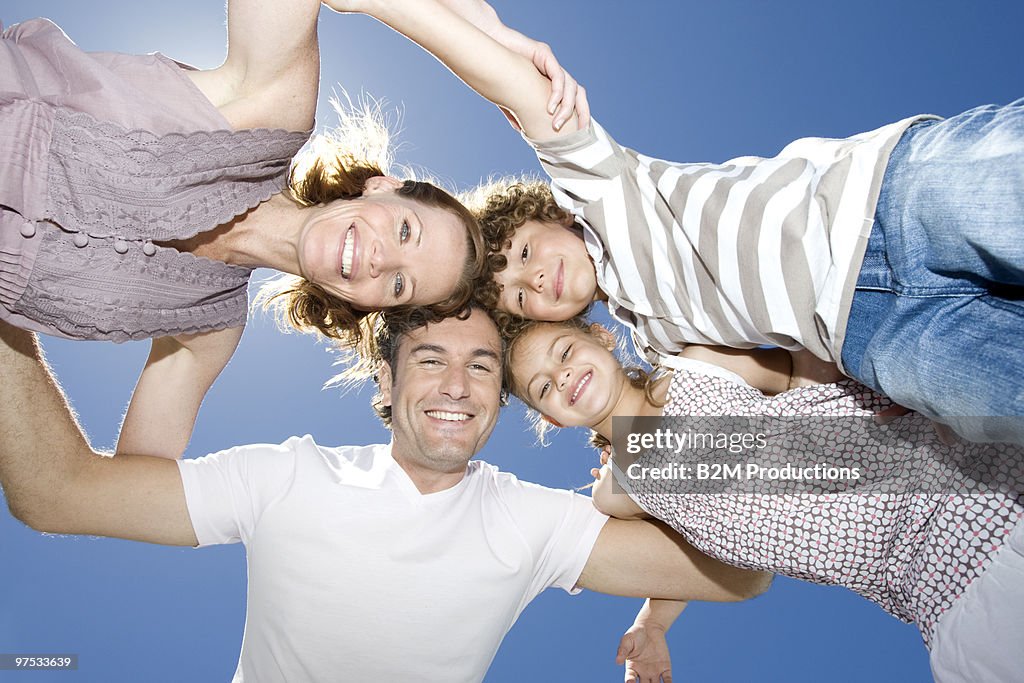
[[[497,328],[477,310],[403,338],[397,368],[381,369],[397,425],[393,457],[421,492],[461,481],[490,435],[501,386],[490,368],[500,348]],[[18,519],[55,533],[197,543],[177,464],[92,451],[34,335],[3,323],[0,382],[9,398],[0,403],[0,485]],[[30,397],[33,410],[25,411]],[[452,423],[437,410],[469,419]],[[578,584],[615,595],[730,601],[761,593],[769,581],[702,555],[664,525],[611,519]]]

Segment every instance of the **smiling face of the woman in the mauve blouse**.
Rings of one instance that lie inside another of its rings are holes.
[[[361,310],[447,299],[467,256],[458,216],[393,188],[318,209],[299,241],[301,274]]]

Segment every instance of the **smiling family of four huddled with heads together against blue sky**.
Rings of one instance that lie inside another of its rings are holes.
[[[548,178],[394,177],[366,112],[311,136],[317,22],[346,20],[324,7],[432,53]],[[236,681],[482,680],[550,587],[646,598],[618,656],[627,680],[671,680],[687,601],[756,598],[774,574],[914,624],[937,681],[1019,680],[1024,100],[680,163],[616,143],[551,50],[482,0],[228,0],[227,33],[201,71],[83,51],[43,18],[2,27],[14,517],[244,544]],[[250,301],[259,267],[282,274]],[[373,383],[390,443],[182,458],[254,305]],[[646,365],[588,318],[602,305]],[[90,445],[37,333],[152,339],[116,453]],[[591,431],[590,492],[474,459],[509,394],[542,433]],[[858,459],[956,463],[988,485],[680,493],[632,479],[612,447],[630,419],[716,416],[856,420],[839,438]]]

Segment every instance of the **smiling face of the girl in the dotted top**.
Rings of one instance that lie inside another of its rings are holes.
[[[516,395],[565,427],[594,427],[611,415],[628,380],[612,353],[614,337],[563,325],[539,325],[512,350]]]

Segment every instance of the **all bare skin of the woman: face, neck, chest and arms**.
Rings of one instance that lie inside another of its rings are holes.
[[[224,62],[184,74],[234,130],[310,130],[319,81],[319,9],[317,0],[229,0]],[[163,246],[302,275],[362,310],[436,303],[461,276],[464,228],[446,211],[398,197],[398,185],[381,176],[361,198],[316,207],[279,194],[228,223]],[[412,239],[402,241],[407,233]],[[343,274],[339,255],[349,234],[355,238],[354,261]],[[181,457],[203,397],[241,337],[242,328],[230,328],[154,339],[117,452]]]

